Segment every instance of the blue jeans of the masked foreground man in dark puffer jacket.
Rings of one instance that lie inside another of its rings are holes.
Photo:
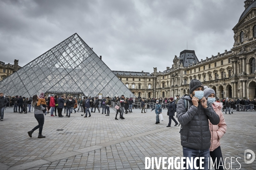
[[[204,170],[208,170],[208,159],[210,159],[209,149],[197,150],[197,149],[192,149],[189,147],[183,147],[183,157],[189,157],[190,160],[191,160],[191,158],[193,158],[193,162],[195,160],[195,157],[204,157],[204,159],[202,159],[202,161],[204,162],[204,164],[202,164],[202,167],[204,168]],[[196,162],[196,166],[200,167],[199,159]],[[184,165],[184,167],[186,167],[186,165]],[[195,170],[195,167],[193,167],[193,168],[190,168],[190,166],[188,166],[188,167],[189,167],[188,169],[186,169],[186,168],[185,169],[186,170]]]

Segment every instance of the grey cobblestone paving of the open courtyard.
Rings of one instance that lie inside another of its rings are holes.
[[[174,123],[166,127],[166,110],[164,121],[158,125],[154,112],[140,113],[139,109],[125,114],[124,120],[114,120],[113,109],[110,116],[92,113],[84,118],[80,112],[70,118],[47,115],[43,129],[46,138],[38,139],[38,130],[32,138],[27,134],[37,125],[34,114],[12,113],[12,109],[6,109],[0,122],[0,170],[140,170],[145,169],[145,157],[182,156],[180,127]],[[228,126],[221,139],[224,159],[241,157],[241,170],[255,170],[256,161],[244,163],[244,150],[256,153],[256,112],[234,112],[224,117]],[[228,169],[230,159],[226,160]],[[240,167],[237,162],[232,165]]]

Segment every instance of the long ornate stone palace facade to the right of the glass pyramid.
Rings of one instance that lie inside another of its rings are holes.
[[[219,98],[256,98],[256,1],[245,0],[244,12],[233,28],[230,51],[198,60],[195,51],[184,50],[172,67],[153,73],[113,71],[135,96],[174,97],[189,94],[191,79],[214,89]]]

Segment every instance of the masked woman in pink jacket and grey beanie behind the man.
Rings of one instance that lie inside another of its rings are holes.
[[[221,153],[221,143],[220,139],[227,131],[227,124],[225,122],[222,109],[222,102],[215,102],[215,91],[207,86],[204,86],[204,97],[207,99],[208,102],[212,103],[212,108],[220,117],[220,122],[218,125],[212,125],[209,121],[209,128],[211,132],[211,147],[210,147],[210,156],[212,161],[215,162],[215,170],[224,170],[223,164],[223,157]],[[222,161],[220,161],[220,159]]]

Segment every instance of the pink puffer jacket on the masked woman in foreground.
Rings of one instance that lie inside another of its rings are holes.
[[[212,137],[210,151],[215,150],[217,147],[221,145],[220,139],[222,138],[224,133],[226,133],[227,131],[227,124],[225,122],[223,113],[221,112],[222,103],[214,102],[212,104],[212,108],[220,117],[220,122],[218,125],[212,125],[212,123],[209,121],[209,127],[210,127],[210,132]]]

